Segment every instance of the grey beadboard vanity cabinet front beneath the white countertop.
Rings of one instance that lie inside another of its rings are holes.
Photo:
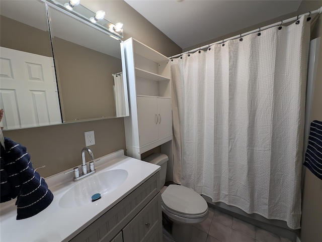
[[[159,172],[91,223],[72,242],[162,242]]]

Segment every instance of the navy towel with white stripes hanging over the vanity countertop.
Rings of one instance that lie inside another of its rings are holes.
[[[17,197],[17,219],[36,215],[53,200],[45,179],[36,172],[26,147],[5,137],[1,145],[1,202]]]

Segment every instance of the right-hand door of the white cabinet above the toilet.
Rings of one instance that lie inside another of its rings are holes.
[[[159,139],[172,135],[172,108],[170,98],[157,98]]]

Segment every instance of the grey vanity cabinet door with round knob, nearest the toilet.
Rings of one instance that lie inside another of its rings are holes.
[[[161,194],[151,200],[142,211],[123,229],[124,241],[148,241],[155,229],[162,229]]]

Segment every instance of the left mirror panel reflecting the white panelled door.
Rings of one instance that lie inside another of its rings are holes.
[[[0,23],[4,129],[61,124],[45,4],[2,1]]]

